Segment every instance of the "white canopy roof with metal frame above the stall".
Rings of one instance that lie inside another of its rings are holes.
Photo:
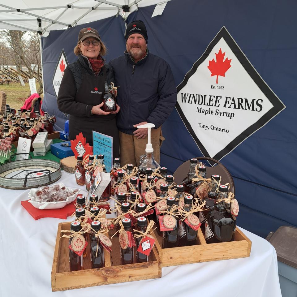
[[[123,5],[128,5],[131,13],[138,6],[160,2],[162,0],[77,0],[72,3],[69,0],[51,0],[44,6],[45,1],[1,0],[0,28],[45,33],[122,14]]]

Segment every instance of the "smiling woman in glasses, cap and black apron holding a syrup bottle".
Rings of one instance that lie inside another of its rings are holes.
[[[106,47],[97,30],[84,28],[78,35],[74,48],[78,56],[69,64],[61,81],[58,93],[58,108],[69,114],[69,138],[75,139],[80,132],[86,142],[93,146],[92,131],[113,137],[114,158],[119,157],[118,128],[116,114],[120,110],[104,112],[103,97],[105,82],[114,82],[112,68],[102,58]]]

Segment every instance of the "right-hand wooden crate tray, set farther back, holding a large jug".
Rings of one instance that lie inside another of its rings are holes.
[[[162,248],[162,237],[154,232],[155,247],[162,267],[249,257],[252,242],[237,227],[235,232],[235,241],[206,243],[199,228],[196,245],[178,248]]]

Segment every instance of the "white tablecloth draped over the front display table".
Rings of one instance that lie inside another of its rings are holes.
[[[62,172],[60,181],[77,187],[73,174]],[[50,274],[58,223],[71,219],[35,221],[20,204],[28,199],[28,192],[0,188],[1,297],[281,296],[275,249],[265,239],[243,229],[252,240],[249,258],[165,267],[159,279],[52,292]]]

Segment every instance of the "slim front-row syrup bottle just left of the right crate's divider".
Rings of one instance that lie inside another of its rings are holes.
[[[190,211],[193,205],[193,197],[191,195],[185,196],[183,209],[185,211]],[[184,221],[181,222],[179,226],[179,245],[189,246],[195,245],[197,238],[197,231],[192,229]]]

